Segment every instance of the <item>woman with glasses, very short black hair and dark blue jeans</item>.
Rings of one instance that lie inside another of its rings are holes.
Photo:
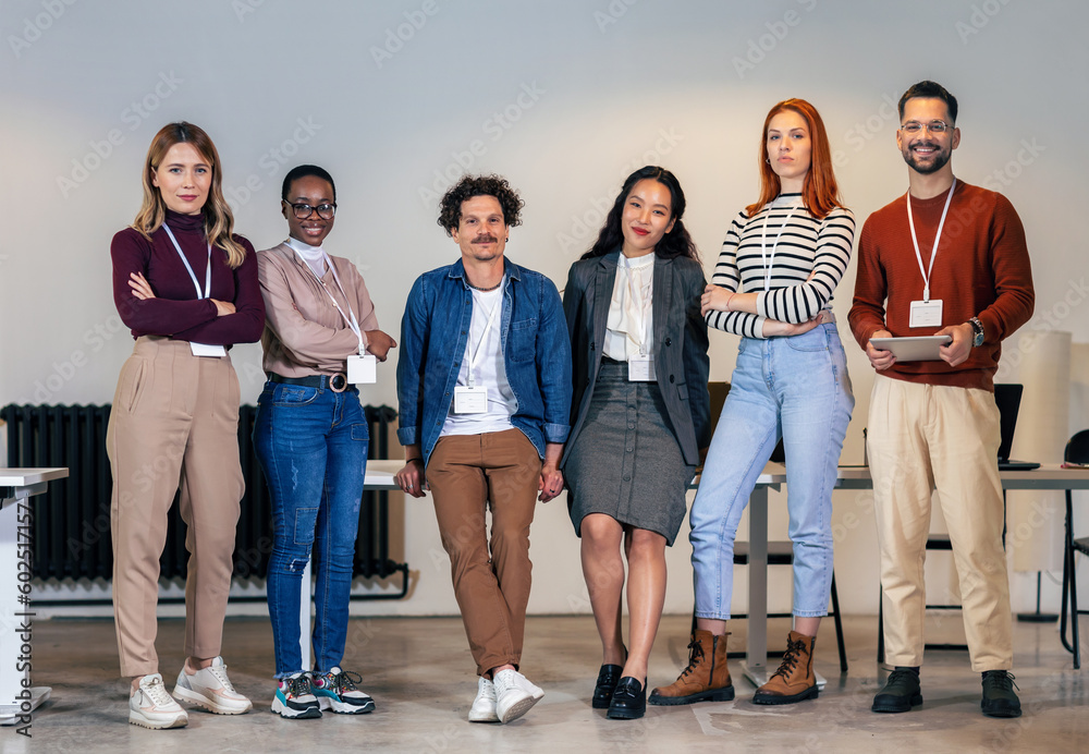
[[[355,536],[367,465],[367,419],[353,373],[386,361],[393,339],[378,329],[363,277],[322,242],[333,228],[337,188],[304,165],[283,180],[281,211],[290,238],[258,254],[267,321],[261,346],[268,375],[254,426],[257,458],[272,498],[269,617],[278,681],[272,712],[355,715],[375,703],[342,669]],[[303,667],[299,605],[303,570],[315,552],[314,669]]]

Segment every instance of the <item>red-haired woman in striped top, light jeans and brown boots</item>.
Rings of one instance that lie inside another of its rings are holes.
[[[730,394],[692,507],[696,632],[681,677],[651,704],[734,697],[726,620],[734,537],[772,449],[786,450],[794,631],[756,704],[817,696],[813,639],[832,583],[832,487],[855,400],[831,311],[854,238],[824,124],[804,99],[775,105],[760,134],[760,198],[730,226],[702,312],[742,336]]]

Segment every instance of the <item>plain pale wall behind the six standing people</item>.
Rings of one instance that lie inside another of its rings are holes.
[[[710,269],[731,217],[756,195],[772,104],[800,96],[820,109],[860,222],[906,190],[890,102],[926,77],[960,100],[957,174],[1001,187],[1026,224],[1030,327],[1085,344],[1087,24],[1089,7],[1057,0],[5,0],[0,403],[111,400],[131,339],[111,299],[109,243],[138,207],[147,144],[168,121],[191,120],[216,139],[236,228],[258,248],[285,236],[285,170],[327,167],[341,207],[329,247],[360,267],[395,331],[415,276],[457,256],[435,217],[443,175],[462,166],[521,190],[525,224],[509,255],[562,284],[623,178],[664,165],[685,187]],[[843,318],[853,283],[854,268],[836,296]],[[844,461],[860,462],[871,370],[841,331],[858,399]],[[735,348],[734,337],[712,336],[712,379],[729,379]],[[234,351],[247,402],[259,392],[259,356],[256,345]],[[392,361],[367,402],[395,404]],[[1056,428],[1064,436],[1089,425],[1086,363],[1075,358],[1077,415]],[[871,506],[837,494],[835,509],[844,607],[876,612]],[[417,588],[365,609],[454,612],[430,507],[408,510]],[[682,612],[684,536],[668,601]],[[534,543],[530,609],[586,610],[562,501],[540,510]],[[787,594],[785,584],[775,591]]]

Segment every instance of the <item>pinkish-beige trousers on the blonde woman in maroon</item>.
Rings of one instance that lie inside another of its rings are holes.
[[[245,490],[238,400],[230,356],[194,356],[185,341],[143,336],[121,368],[107,450],[113,472],[113,615],[122,676],[159,670],[159,557],[179,487],[189,551],[185,654],[221,654]]]

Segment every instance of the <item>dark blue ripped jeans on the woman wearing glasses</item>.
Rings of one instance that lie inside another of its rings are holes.
[[[276,677],[302,670],[298,612],[303,569],[314,549],[314,670],[339,666],[347,636],[352,562],[367,469],[367,419],[353,387],[266,382],[254,446],[272,497],[267,591]]]

